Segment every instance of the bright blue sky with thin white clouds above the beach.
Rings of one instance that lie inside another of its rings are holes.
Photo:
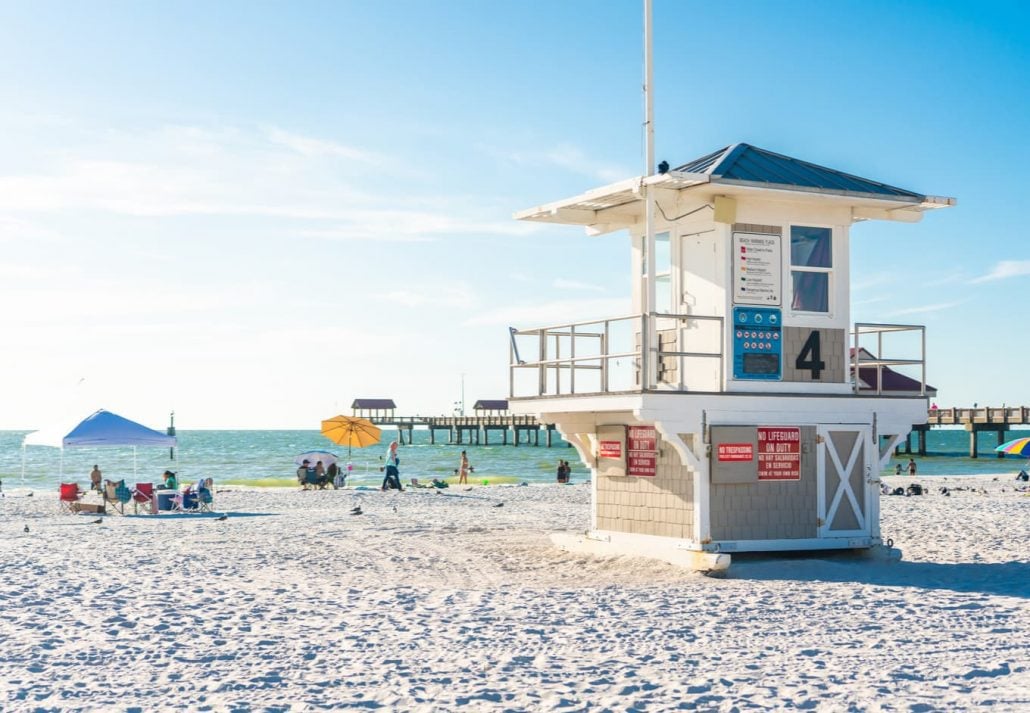
[[[852,316],[925,324],[942,406],[1030,403],[1030,13],[654,4],[657,158],[957,197],[853,230]],[[641,172],[641,58],[636,0],[0,2],[0,428],[504,397],[508,325],[628,310],[624,237],[511,214]]]

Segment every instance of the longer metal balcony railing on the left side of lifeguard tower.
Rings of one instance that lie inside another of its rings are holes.
[[[513,399],[723,388],[720,316],[630,314],[510,334]]]

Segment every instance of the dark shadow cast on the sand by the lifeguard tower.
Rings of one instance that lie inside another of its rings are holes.
[[[850,553],[734,554],[727,577],[751,580],[854,582],[949,589],[1030,599],[1030,562],[883,562]]]

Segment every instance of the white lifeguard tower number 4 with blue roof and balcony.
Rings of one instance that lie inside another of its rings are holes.
[[[925,335],[851,324],[851,228],[954,204],[739,143],[516,214],[629,234],[631,314],[511,330],[511,411],[593,474],[591,529],[560,544],[702,570],[879,547],[880,472],[926,422]]]

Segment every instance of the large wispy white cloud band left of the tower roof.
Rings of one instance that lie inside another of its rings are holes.
[[[26,214],[266,217],[308,224],[295,235],[345,240],[540,230],[511,220],[507,208],[427,194],[404,162],[279,128],[164,126],[94,138],[50,149],[32,173],[0,175],[0,212],[9,216],[0,239],[24,235],[30,226],[14,216]],[[390,183],[411,185],[375,188]]]

